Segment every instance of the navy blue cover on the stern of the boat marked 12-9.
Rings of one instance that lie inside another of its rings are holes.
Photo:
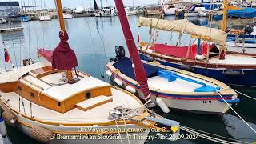
[[[120,72],[122,74],[125,74],[127,77],[132,78],[135,80],[134,77],[134,68],[131,66],[131,61],[130,58],[122,58],[119,59],[118,62],[114,63],[114,67],[118,70],[120,70]],[[146,64],[144,65],[144,69],[146,70],[146,76],[147,78],[149,78],[150,76],[152,76],[153,74],[157,74],[158,69],[154,66],[149,66]]]

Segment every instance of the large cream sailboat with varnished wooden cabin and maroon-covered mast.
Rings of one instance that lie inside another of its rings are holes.
[[[144,143],[150,129],[163,130],[156,122],[179,134],[178,122],[151,117],[133,94],[73,69],[77,59],[67,42],[61,0],[55,2],[62,30],[57,48],[38,50],[47,61],[0,74],[5,121],[49,143]]]

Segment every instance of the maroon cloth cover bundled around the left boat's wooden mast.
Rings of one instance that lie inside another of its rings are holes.
[[[54,49],[52,68],[58,70],[70,70],[78,66],[77,57],[74,50],[70,49],[69,36],[66,31],[59,32],[58,37],[61,39],[58,46]]]

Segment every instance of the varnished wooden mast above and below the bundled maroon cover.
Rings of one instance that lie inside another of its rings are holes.
[[[58,13],[59,26],[61,27],[61,31],[64,34],[66,29],[62,11],[62,0],[55,0],[55,5]],[[72,70],[66,70],[66,78],[68,79],[68,82],[74,82]]]

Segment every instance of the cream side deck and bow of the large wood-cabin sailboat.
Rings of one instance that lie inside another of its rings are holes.
[[[110,122],[107,118],[109,116],[110,110],[113,110],[114,107],[123,106],[126,108],[134,109],[141,107],[141,104],[136,101],[130,95],[122,92],[121,90],[111,89],[113,96],[111,102],[106,102],[100,106],[95,106],[90,110],[80,110],[78,108],[74,108],[73,110],[67,111],[66,113],[58,113],[57,111],[47,109],[43,106],[38,106],[35,103],[32,103],[32,109],[30,109],[30,101],[25,98],[20,97],[18,94],[11,93],[2,93],[1,100],[3,102],[7,102],[10,107],[14,110],[20,112],[21,114],[25,114],[28,117],[31,117],[31,110],[33,118],[40,119],[42,121],[50,121],[50,122],[60,122],[60,123],[88,123],[88,122]],[[19,103],[19,98],[21,101]],[[93,101],[99,102],[96,97],[88,100],[90,101],[90,105],[92,105]],[[87,100],[86,100],[87,101]],[[83,101],[83,104],[86,103]],[[24,107],[22,106],[22,102],[24,102]],[[19,106],[21,109],[19,110]]]

